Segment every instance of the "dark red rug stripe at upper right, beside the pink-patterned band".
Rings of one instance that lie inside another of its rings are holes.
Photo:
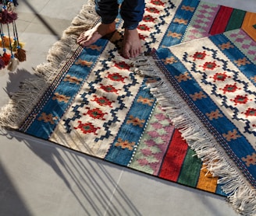
[[[229,23],[229,18],[233,12],[233,9],[225,6],[221,6],[218,14],[215,16],[215,20],[212,23],[212,28],[210,30],[211,35],[217,33],[223,33],[226,30],[226,26]]]

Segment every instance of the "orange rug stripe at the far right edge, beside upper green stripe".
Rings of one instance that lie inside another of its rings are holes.
[[[244,30],[253,40],[256,41],[256,29],[254,25],[256,24],[256,13],[247,12],[244,16],[244,23],[242,25],[242,30]]]

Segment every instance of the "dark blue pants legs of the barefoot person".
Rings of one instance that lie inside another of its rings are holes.
[[[109,24],[115,21],[118,15],[117,0],[95,0],[96,12],[101,16],[101,22]],[[129,30],[136,29],[144,15],[144,0],[124,0],[120,14],[124,20],[123,27]]]

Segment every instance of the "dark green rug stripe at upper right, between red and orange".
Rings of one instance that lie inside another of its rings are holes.
[[[226,31],[240,29],[244,22],[246,12],[240,9],[233,9],[229,23],[226,25]]]

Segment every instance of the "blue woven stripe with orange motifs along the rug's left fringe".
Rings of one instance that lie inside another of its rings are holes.
[[[102,47],[102,51],[107,42],[107,40],[101,39],[98,40],[96,45],[98,47]],[[52,132],[55,130],[55,127],[57,124],[59,124],[59,120],[61,119],[62,115],[69,107],[69,104],[73,101],[73,98],[76,96],[77,92],[80,91],[80,88],[82,85],[84,85],[84,82],[86,82],[87,76],[90,74],[92,68],[94,68],[94,64],[98,60],[98,55],[101,54],[101,51],[84,49],[81,54],[76,57],[76,60],[81,59],[92,62],[91,67],[83,66],[81,64],[73,64],[68,71],[62,71],[63,77],[59,81],[59,85],[55,87],[56,89],[51,92],[51,94],[47,95],[46,93],[46,95],[44,95],[45,101],[42,103],[42,110],[37,113],[37,117],[34,122],[30,124],[27,131],[25,130],[24,132],[44,139],[48,139],[51,136]],[[81,82],[65,82],[64,80],[68,75],[70,77],[81,79]],[[69,98],[68,102],[60,102],[57,99],[54,99],[55,93]],[[41,107],[39,107],[39,109],[41,109]],[[54,121],[44,122],[44,120],[38,120],[42,113],[45,113],[45,115],[52,115],[52,117],[54,117]]]

